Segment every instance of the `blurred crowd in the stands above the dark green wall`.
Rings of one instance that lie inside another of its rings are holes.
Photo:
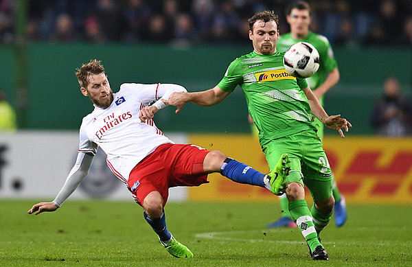
[[[20,1],[20,0],[19,0]],[[16,0],[0,0],[0,43],[15,40]],[[289,0],[26,0],[26,40],[249,43],[247,19]],[[411,0],[312,0],[314,32],[332,45],[412,45]]]

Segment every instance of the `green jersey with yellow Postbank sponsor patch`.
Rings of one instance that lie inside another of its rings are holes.
[[[284,51],[260,55],[255,51],[236,58],[218,86],[233,92],[240,85],[246,97],[249,114],[259,130],[260,144],[314,129],[311,111],[304,91],[305,79],[290,76],[283,65]]]

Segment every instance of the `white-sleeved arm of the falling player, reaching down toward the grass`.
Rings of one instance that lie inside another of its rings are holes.
[[[54,198],[52,202],[40,202],[33,205],[32,209],[27,211],[27,213],[35,215],[42,213],[43,211],[56,211],[67,198],[76,190],[76,188],[82,183],[84,178],[86,178],[89,172],[91,162],[93,161],[93,154],[79,152],[76,159],[76,164],[71,169],[71,172],[67,176],[65,185],[63,185],[60,192]]]

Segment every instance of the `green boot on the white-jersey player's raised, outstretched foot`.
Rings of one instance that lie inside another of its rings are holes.
[[[276,196],[281,196],[286,191],[286,176],[288,176],[290,172],[290,162],[288,154],[282,154],[275,168],[269,174],[271,192]]]

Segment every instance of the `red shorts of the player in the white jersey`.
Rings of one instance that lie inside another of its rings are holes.
[[[159,191],[164,207],[170,187],[209,183],[203,170],[207,153],[209,150],[194,145],[164,143],[133,168],[128,189],[139,205],[150,192]]]

